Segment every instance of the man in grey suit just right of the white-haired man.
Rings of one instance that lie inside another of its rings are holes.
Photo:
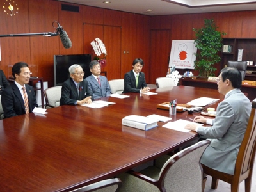
[[[93,98],[108,97],[111,94],[111,89],[108,84],[108,79],[105,76],[100,76],[100,63],[93,60],[89,64],[92,75],[86,78],[88,88],[93,94]]]

